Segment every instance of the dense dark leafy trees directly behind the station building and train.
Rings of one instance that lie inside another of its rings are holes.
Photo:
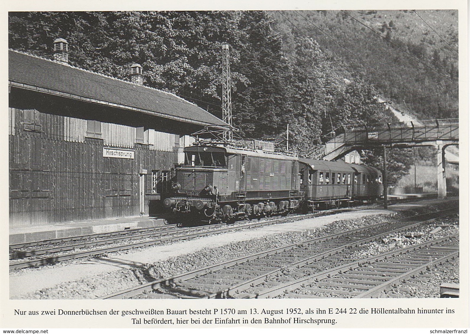
[[[235,126],[246,137],[285,135],[307,152],[341,122],[384,118],[376,91],[311,38],[283,52],[271,12],[10,13],[9,47],[51,56],[57,37],[70,62],[117,78],[138,62],[144,83],[176,93],[221,117],[221,46],[230,45]],[[349,80],[345,81],[345,78]],[[341,110],[341,112],[338,112]],[[373,116],[373,117],[371,117]]]

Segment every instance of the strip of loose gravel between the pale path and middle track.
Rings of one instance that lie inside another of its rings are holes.
[[[401,211],[390,215],[371,215],[358,219],[338,220],[322,228],[310,231],[309,235],[295,232],[278,233],[248,241],[238,241],[216,248],[204,248],[193,254],[170,257],[153,264],[137,265],[132,269],[123,269],[100,274],[77,281],[64,282],[52,288],[42,289],[33,294],[10,296],[14,299],[94,299],[122,291],[150,281],[169,277],[182,272],[195,270],[207,265],[246,256],[292,243],[343,232],[354,228],[378,224],[413,214],[432,212],[437,207],[421,207],[416,210]]]

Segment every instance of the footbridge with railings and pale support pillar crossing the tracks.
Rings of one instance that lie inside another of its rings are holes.
[[[381,127],[369,127],[366,124],[343,125],[337,129],[337,132],[332,133],[332,138],[314,150],[309,157],[335,160],[357,149],[383,148],[386,155],[386,148],[434,147],[437,159],[438,196],[446,197],[446,148],[459,145],[458,119],[436,119],[420,121],[417,124],[388,123]],[[452,154],[447,162],[458,164],[458,155]],[[385,165],[384,173],[386,173]]]

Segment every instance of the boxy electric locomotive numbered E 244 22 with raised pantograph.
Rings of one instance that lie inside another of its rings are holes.
[[[196,145],[184,149],[164,207],[180,222],[226,222],[286,214],[304,199],[295,155],[253,148]]]

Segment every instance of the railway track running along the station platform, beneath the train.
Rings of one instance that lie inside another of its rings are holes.
[[[241,220],[236,222],[234,225],[217,224],[186,228],[179,228],[176,225],[163,225],[112,233],[100,233],[46,241],[18,243],[10,245],[10,260],[15,261],[10,263],[9,269],[18,270],[43,264],[55,264],[65,260],[78,259],[87,256],[98,256],[110,252],[153,246],[170,241],[189,240],[211,234],[233,232],[245,228],[256,228],[345,211],[367,209],[370,209],[370,207],[325,210],[310,214],[293,214],[288,215],[287,217],[268,217],[248,222],[246,220]],[[142,239],[147,240],[142,241]],[[129,243],[129,241],[136,242]],[[18,259],[22,258],[29,259],[18,261]]]

